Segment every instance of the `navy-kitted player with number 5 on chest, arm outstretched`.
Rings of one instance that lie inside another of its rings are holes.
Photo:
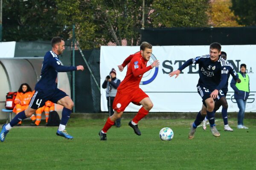
[[[221,45],[214,42],[210,45],[208,55],[195,57],[187,60],[176,71],[169,74],[170,77],[176,75],[177,78],[184,68],[191,64],[199,64],[199,80],[198,80],[198,94],[202,97],[202,102],[207,108],[207,116],[209,119],[210,130],[215,137],[220,136],[220,133],[215,127],[214,119],[214,100],[217,96],[223,96],[219,91],[227,82],[227,62],[220,57]],[[205,114],[199,111],[195,122],[191,124],[191,131],[189,132],[189,139],[194,138],[195,130],[198,125],[204,120]]]

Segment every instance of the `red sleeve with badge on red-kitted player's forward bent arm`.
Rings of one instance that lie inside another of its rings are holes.
[[[152,68],[151,65],[148,65],[148,67],[143,67],[143,63],[138,57],[131,59],[130,65],[134,77],[140,76]]]

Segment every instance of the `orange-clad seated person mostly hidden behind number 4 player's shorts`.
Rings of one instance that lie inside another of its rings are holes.
[[[48,118],[49,118],[49,112],[51,111],[54,111],[54,103],[51,102],[51,101],[47,101],[45,102],[45,105],[41,108],[38,108],[35,113],[36,113],[36,121],[35,123],[32,123],[31,125],[32,126],[38,126],[41,122],[41,115],[42,113],[44,112],[45,114],[45,121],[46,121],[46,124],[48,122]]]

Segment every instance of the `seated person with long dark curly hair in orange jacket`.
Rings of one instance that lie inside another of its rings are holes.
[[[13,112],[18,114],[21,111],[26,110],[29,107],[29,102],[33,95],[34,92],[32,92],[30,86],[27,83],[21,84],[17,92],[17,96],[14,100],[15,107],[13,109]],[[30,119],[35,122],[35,115],[32,114]],[[21,121],[18,123],[18,125],[21,125]]]

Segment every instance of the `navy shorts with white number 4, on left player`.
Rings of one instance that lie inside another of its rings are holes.
[[[64,91],[55,88],[54,91],[35,91],[34,96],[31,98],[29,107],[32,109],[38,109],[44,106],[48,100],[57,103],[60,99],[68,96]]]

